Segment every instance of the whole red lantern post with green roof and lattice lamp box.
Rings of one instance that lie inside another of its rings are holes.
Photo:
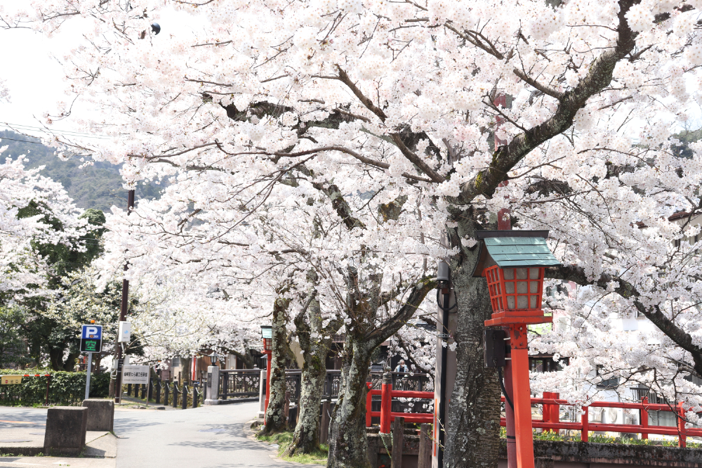
[[[486,330],[485,365],[503,367],[504,343],[509,342],[512,401],[508,394],[505,399],[515,413],[517,468],[534,468],[527,326],[552,322],[541,308],[543,279],[545,267],[560,262],[546,245],[548,230],[483,230],[476,238],[480,247],[473,276],[487,280],[493,310],[485,326],[498,328]]]

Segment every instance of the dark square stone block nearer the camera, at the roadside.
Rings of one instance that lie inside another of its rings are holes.
[[[55,406],[46,413],[44,453],[79,455],[86,444],[88,408]]]

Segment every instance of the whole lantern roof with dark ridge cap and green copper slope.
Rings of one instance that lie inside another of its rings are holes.
[[[485,268],[560,265],[546,245],[548,230],[483,230],[475,237],[480,241],[478,261],[473,276],[482,276]]]

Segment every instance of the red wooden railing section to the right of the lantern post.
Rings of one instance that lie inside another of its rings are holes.
[[[663,405],[660,403],[649,403],[648,398],[642,398],[641,403],[623,403],[620,401],[593,401],[590,405],[583,406],[583,415],[580,422],[561,422],[560,405],[576,406],[577,403],[569,403],[567,400],[560,400],[558,394],[546,392],[552,398],[531,398],[532,405],[543,405],[541,420],[531,420],[531,427],[550,429],[571,429],[581,431],[581,441],[588,441],[590,431],[623,432],[625,434],[641,434],[641,438],[648,438],[649,434],[661,436],[677,436],[678,446],[687,446],[687,437],[702,437],[702,429],[685,427],[684,408],[682,403],[675,406]],[[502,397],[505,401],[505,397]],[[589,420],[590,408],[622,408],[628,410],[640,410],[640,424],[616,424],[592,422]],[[650,426],[649,411],[670,411],[677,416],[677,426]],[[505,418],[501,418],[500,424],[506,425]]]

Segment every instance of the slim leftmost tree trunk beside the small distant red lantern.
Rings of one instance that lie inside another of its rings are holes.
[[[270,398],[265,413],[265,426],[261,433],[265,435],[282,432],[287,428],[285,419],[285,357],[288,344],[286,341],[286,311],[289,299],[279,297],[273,305],[273,340],[270,364]]]

